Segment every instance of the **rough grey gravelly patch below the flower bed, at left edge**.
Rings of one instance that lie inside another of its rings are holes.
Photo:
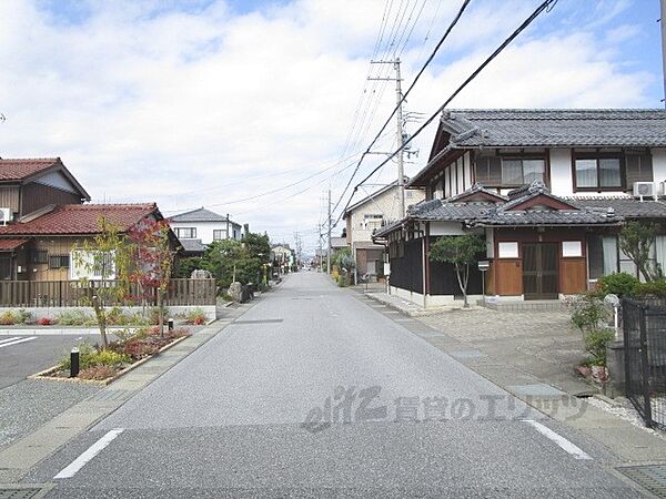
[[[100,387],[26,379],[0,389],[0,448],[28,435]]]

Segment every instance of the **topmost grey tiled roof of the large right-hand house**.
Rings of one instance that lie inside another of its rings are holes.
[[[453,147],[666,146],[666,110],[451,110]]]

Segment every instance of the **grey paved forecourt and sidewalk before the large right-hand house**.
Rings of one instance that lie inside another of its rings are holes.
[[[604,409],[574,374],[583,344],[565,312],[506,313],[483,307],[404,318],[413,312],[384,294],[364,295],[403,313],[395,320],[553,419],[604,445],[625,464],[666,461],[666,436]],[[403,317],[403,318],[400,318]],[[583,398],[582,398],[583,397]]]

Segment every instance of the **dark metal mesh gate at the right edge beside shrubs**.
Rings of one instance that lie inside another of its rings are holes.
[[[626,393],[645,425],[666,429],[666,303],[622,301]]]

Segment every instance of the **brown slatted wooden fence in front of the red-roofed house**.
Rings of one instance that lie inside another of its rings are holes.
[[[89,306],[90,286],[118,286],[119,282],[90,281],[83,286],[79,281],[0,281],[0,307],[82,307]],[[215,305],[215,279],[171,279],[167,306]],[[131,285],[127,296],[110,305],[148,305],[157,303],[154,291],[142,293]]]

